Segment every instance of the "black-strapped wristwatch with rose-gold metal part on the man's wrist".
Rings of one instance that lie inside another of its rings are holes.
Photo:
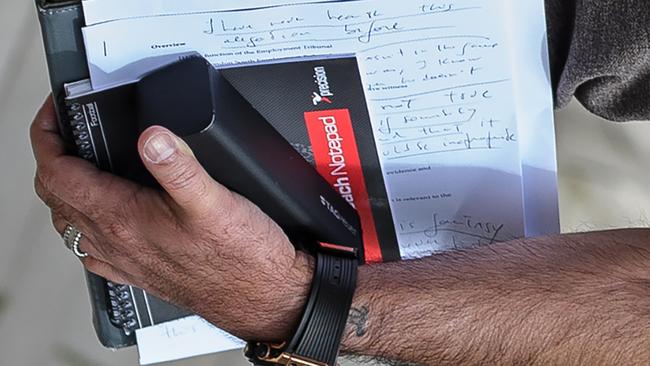
[[[249,342],[246,357],[256,366],[335,366],[356,289],[358,252],[321,243],[309,300],[290,341]]]

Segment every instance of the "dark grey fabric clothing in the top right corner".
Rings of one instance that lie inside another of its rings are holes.
[[[650,120],[650,0],[546,0],[557,107]]]

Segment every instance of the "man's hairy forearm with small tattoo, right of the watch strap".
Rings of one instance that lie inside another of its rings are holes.
[[[650,232],[361,269],[345,353],[415,364],[650,364]]]

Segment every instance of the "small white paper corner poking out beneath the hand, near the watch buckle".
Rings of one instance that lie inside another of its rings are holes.
[[[175,361],[240,349],[244,341],[216,328],[198,316],[136,331],[140,364]]]

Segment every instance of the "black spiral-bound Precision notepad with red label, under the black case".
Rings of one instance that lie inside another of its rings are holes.
[[[221,74],[357,208],[367,260],[399,260],[356,58],[285,60]],[[94,91],[82,80],[65,90],[78,154],[100,169],[154,186],[137,152],[135,83]],[[189,315],[130,286],[107,282],[104,292],[110,322],[124,334]]]

